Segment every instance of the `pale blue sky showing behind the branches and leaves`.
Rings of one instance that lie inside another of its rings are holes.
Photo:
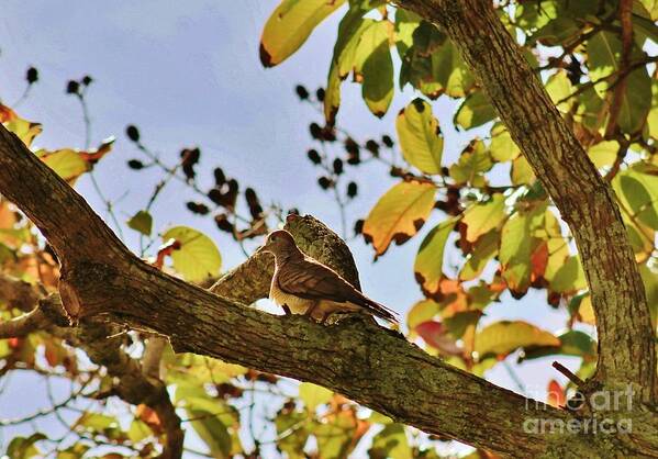
[[[125,163],[140,158],[124,130],[136,124],[142,139],[174,164],[178,152],[198,145],[201,181],[211,184],[212,169],[254,187],[265,202],[285,209],[295,206],[338,228],[339,214],[330,193],[316,184],[317,170],[305,159],[312,146],[308,124],[321,122],[309,105],[301,104],[293,88],[323,86],[335,41],[339,14],[323,23],[293,57],[274,69],[258,60],[263,24],[278,2],[261,1],[24,1],[4,0],[0,18],[0,100],[9,104],[24,89],[29,66],[40,70],[40,81],[18,112],[44,125],[35,144],[47,148],[83,147],[85,126],[77,100],[65,94],[66,81],[90,75],[88,104],[92,120],[92,146],[115,135],[113,152],[98,165],[96,177],[103,193],[116,204],[121,221],[146,204],[160,178],[155,171],[135,172]],[[345,85],[338,123],[363,138],[394,132],[395,113],[415,94],[398,91],[383,120],[372,116],[360,99],[360,88]],[[451,127],[454,102],[433,102],[445,135],[444,163],[449,164],[470,136]],[[348,171],[358,177],[359,195],[348,210],[352,222],[363,217],[394,181],[383,168]],[[358,173],[358,176],[357,176]],[[82,178],[77,190],[107,217],[102,201]],[[236,245],[219,232],[209,217],[191,215],[185,201],[194,194],[171,186],[154,208],[155,228],[185,224],[212,237],[228,269],[244,257]],[[436,213],[420,236],[392,247],[377,262],[372,248],[357,238],[349,242],[360,270],[364,291],[402,313],[421,292],[413,279],[413,259],[422,236],[443,217]],[[136,247],[134,234],[126,243]],[[521,301],[489,307],[484,322],[522,318],[551,332],[564,326],[564,315],[546,306],[545,293],[531,292]],[[538,359],[515,371],[528,392],[543,398],[548,378],[564,382],[550,368],[551,359]],[[577,369],[576,359],[562,359]],[[492,382],[517,390],[502,365],[488,373]],[[18,382],[16,382],[18,381]],[[457,388],[456,388],[457,389]],[[0,395],[0,416],[32,413],[43,406],[44,388],[15,378]]]

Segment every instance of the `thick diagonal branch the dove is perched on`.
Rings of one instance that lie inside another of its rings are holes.
[[[103,317],[155,331],[178,351],[312,381],[427,433],[510,457],[559,456],[565,444],[581,456],[596,450],[587,437],[524,426],[542,418],[566,423],[573,419],[570,413],[460,371],[370,321],[322,326],[272,316],[167,276],[123,247],[83,199],[4,128],[0,191],[44,234],[56,235],[52,245],[67,260],[60,292],[80,327]],[[75,247],[69,234],[83,247]],[[107,336],[80,333],[83,343]],[[100,349],[88,352],[102,357]],[[103,365],[130,367],[120,360]]]

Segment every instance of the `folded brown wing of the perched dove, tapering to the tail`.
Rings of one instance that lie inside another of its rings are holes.
[[[279,289],[308,300],[350,302],[370,313],[397,322],[395,313],[356,290],[333,269],[310,259],[289,261],[278,273]]]

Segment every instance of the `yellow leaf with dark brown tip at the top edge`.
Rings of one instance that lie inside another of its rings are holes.
[[[345,0],[283,0],[267,20],[260,37],[260,63],[274,67],[292,55],[313,29]]]

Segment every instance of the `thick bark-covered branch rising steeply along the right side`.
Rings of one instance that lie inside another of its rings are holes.
[[[569,224],[599,334],[595,381],[631,383],[655,402],[654,331],[614,191],[568,128],[489,0],[399,0],[457,45],[514,142]]]

